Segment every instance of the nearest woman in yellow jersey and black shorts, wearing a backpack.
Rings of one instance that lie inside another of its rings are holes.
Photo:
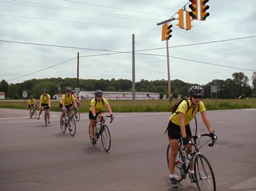
[[[189,123],[195,118],[197,111],[201,113],[203,123],[208,129],[211,138],[214,139],[214,136],[216,136],[214,135],[214,131],[212,131],[212,126],[205,112],[205,106],[201,101],[203,97],[203,88],[201,88],[201,86],[192,86],[188,90],[188,97],[188,104],[186,100],[182,101],[177,107],[177,110],[171,114],[168,124],[168,138],[171,147],[169,155],[169,179],[173,188],[178,188],[177,180],[174,175],[175,157],[178,152],[178,139],[182,136],[183,144],[186,147],[186,155],[190,154],[190,152],[192,152],[192,145],[188,144],[190,139],[186,136],[191,136]],[[191,164],[189,175],[191,179],[193,179],[193,182],[196,182],[193,167],[194,165]]]

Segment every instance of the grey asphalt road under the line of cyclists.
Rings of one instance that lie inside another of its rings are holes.
[[[0,190],[197,190],[189,179],[169,184],[166,161],[170,113],[115,114],[112,144],[91,145],[88,114],[81,114],[76,135],[61,133],[60,112],[51,124],[28,117],[28,110],[0,109]],[[218,191],[256,190],[256,109],[208,111],[218,147],[202,147],[214,169]],[[199,121],[199,134],[206,128]],[[195,122],[192,122],[194,128]],[[206,141],[201,139],[201,143]]]

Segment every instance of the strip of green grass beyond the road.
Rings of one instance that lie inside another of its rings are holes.
[[[170,111],[174,103],[180,100],[173,100],[171,103],[165,99],[159,100],[136,100],[135,104],[132,104],[132,100],[109,100],[111,109],[115,113],[119,112],[164,112]],[[203,99],[206,109],[244,109],[255,108],[256,99]],[[39,101],[37,101],[39,103]],[[89,100],[81,100],[82,106],[79,108],[81,113],[89,111]],[[10,109],[28,109],[27,101],[0,101],[0,108]],[[106,110],[106,109],[105,109]],[[60,111],[59,101],[51,101],[51,111]]]

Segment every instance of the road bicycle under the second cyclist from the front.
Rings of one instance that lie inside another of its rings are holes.
[[[96,142],[98,141],[98,139],[101,139],[101,143],[104,150],[108,152],[111,147],[111,136],[110,136],[108,126],[104,124],[104,118],[111,118],[111,116],[98,116],[96,118],[96,123],[94,125],[94,138]],[[113,122],[113,118],[111,118],[111,122]],[[91,141],[90,126],[89,126],[89,139]]]

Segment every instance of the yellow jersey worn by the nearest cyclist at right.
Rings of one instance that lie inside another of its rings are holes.
[[[192,113],[193,108],[191,107],[191,100],[188,100],[188,104],[186,103],[186,101],[182,101],[182,103],[180,103],[180,105],[177,107],[177,113],[178,112],[182,112],[183,114],[185,114],[185,125],[189,124],[191,120],[193,120],[193,118],[195,118],[195,116],[197,115],[197,110],[199,107],[199,112],[201,111],[205,111],[205,106],[203,104],[202,101],[199,102],[199,105],[197,105],[197,108],[195,108],[195,111]],[[189,106],[189,109],[188,109]],[[187,111],[188,110],[188,111]],[[187,112],[186,112],[187,111]],[[173,122],[174,124],[180,125],[180,115],[173,113],[171,114],[171,117],[169,118],[171,120],[171,122]]]

